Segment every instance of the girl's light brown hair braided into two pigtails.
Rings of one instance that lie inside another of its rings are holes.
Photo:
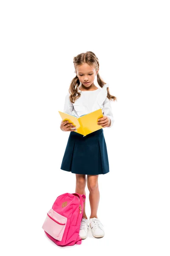
[[[77,66],[82,65],[87,63],[89,66],[93,66],[95,70],[99,68],[99,61],[94,52],[85,52],[85,53],[80,53],[73,59],[74,63],[74,68],[76,70]],[[99,76],[99,72],[97,73],[97,83],[99,84],[100,87],[103,87],[104,84],[106,84],[102,78]],[[80,85],[80,81],[78,76],[76,75],[74,79],[72,79],[70,87],[69,87],[69,93],[70,93],[70,101],[72,103],[75,102],[76,99],[78,99],[81,95],[80,92],[78,92],[78,87]],[[117,100],[115,96],[112,96],[109,93],[109,88],[107,87],[107,97],[108,99],[113,99],[113,101]]]

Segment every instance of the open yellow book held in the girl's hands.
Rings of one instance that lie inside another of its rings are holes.
[[[82,134],[84,136],[97,131],[102,128],[101,125],[98,125],[98,119],[103,117],[102,109],[99,108],[96,111],[93,111],[91,113],[82,115],[82,116],[74,116],[70,115],[61,111],[58,111],[63,122],[69,121],[71,122],[74,126],[76,126],[77,132],[79,134]]]

